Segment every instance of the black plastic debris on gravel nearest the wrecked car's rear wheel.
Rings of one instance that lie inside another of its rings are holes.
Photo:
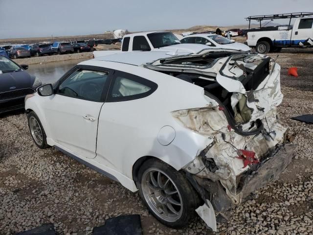
[[[92,235],[142,235],[140,215],[120,215],[107,219],[105,225],[93,228]]]

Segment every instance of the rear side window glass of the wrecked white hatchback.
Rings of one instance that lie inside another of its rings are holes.
[[[108,102],[146,97],[156,91],[157,84],[127,72],[116,71],[110,87]]]

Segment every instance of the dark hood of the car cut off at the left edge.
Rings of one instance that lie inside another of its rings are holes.
[[[0,93],[18,89],[31,88],[35,77],[26,71],[6,72],[0,74]]]

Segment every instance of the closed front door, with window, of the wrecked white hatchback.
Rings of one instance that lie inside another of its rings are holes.
[[[52,139],[76,156],[94,158],[98,117],[107,93],[110,70],[77,66],[54,88],[45,105]]]

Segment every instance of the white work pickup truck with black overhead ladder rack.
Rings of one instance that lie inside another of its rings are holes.
[[[308,17],[311,16],[311,17]],[[291,19],[296,18],[293,25]],[[246,44],[255,47],[256,52],[264,54],[280,51],[282,47],[313,47],[313,13],[289,13],[278,15],[249,16],[249,22],[260,22],[259,28],[249,28]],[[289,24],[262,27],[261,21],[288,19]],[[249,23],[250,27],[250,23]]]

